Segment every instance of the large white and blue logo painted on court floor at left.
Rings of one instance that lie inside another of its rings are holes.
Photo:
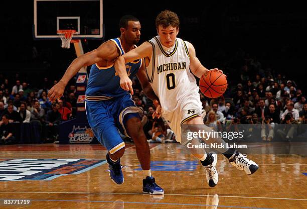
[[[3,159],[0,181],[52,180],[59,176],[80,174],[106,163],[87,159]]]

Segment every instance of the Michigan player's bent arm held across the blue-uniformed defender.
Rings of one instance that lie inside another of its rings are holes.
[[[152,46],[148,42],[144,42],[139,47],[125,53],[115,60],[114,67],[118,76],[120,77],[119,84],[122,89],[127,91],[130,90],[131,94],[133,94],[132,81],[127,75],[125,64],[144,57],[150,58],[151,52]]]

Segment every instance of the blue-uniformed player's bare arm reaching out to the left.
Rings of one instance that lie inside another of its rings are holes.
[[[56,99],[60,98],[69,80],[75,76],[83,66],[89,66],[104,60],[113,62],[118,56],[119,53],[115,44],[112,41],[108,41],[100,45],[97,49],[74,59],[61,80],[48,91],[49,100],[54,102]]]

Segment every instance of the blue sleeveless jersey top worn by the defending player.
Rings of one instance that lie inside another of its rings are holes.
[[[110,41],[115,43],[120,51],[120,56],[125,53],[119,38],[111,39]],[[136,74],[141,63],[141,59],[126,63],[127,74],[130,79]],[[128,91],[120,87],[119,81],[120,77],[115,71],[114,63],[106,67],[100,67],[97,63],[93,64],[85,91],[85,99],[88,101],[100,101],[128,94]]]

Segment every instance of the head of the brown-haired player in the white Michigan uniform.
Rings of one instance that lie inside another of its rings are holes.
[[[166,47],[175,44],[176,36],[179,32],[180,21],[176,13],[165,10],[156,18],[156,28],[160,36],[161,43]]]

